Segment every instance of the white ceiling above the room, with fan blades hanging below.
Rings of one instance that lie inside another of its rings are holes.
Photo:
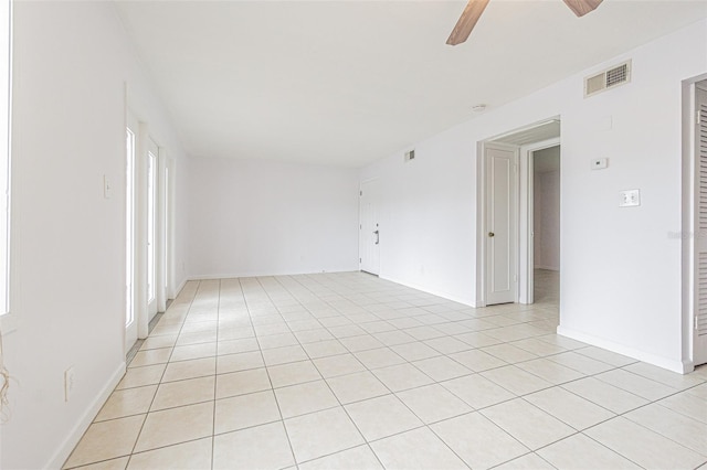
[[[707,18],[707,0],[118,1],[194,157],[360,167]]]

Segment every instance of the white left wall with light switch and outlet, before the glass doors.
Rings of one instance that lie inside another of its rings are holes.
[[[10,299],[18,328],[3,337],[13,380],[2,468],[59,468],[125,367],[126,82],[179,169],[179,142],[110,3],[14,3]],[[177,216],[183,229],[184,214]],[[70,366],[76,385],[65,403]]]

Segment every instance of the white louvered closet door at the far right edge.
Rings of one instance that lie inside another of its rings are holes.
[[[695,365],[707,363],[707,90],[696,89],[697,201],[695,207]]]

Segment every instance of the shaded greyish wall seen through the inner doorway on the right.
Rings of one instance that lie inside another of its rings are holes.
[[[559,160],[559,147],[534,152],[534,261],[541,269],[560,269]]]

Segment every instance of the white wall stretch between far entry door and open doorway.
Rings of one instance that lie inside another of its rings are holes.
[[[455,128],[361,170],[380,178],[380,276],[474,302],[475,142]]]

